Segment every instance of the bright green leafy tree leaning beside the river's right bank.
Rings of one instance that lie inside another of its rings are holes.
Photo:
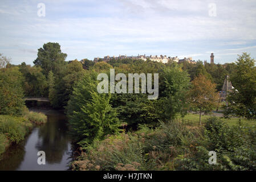
[[[107,134],[117,133],[120,126],[115,109],[109,105],[111,94],[99,94],[99,81],[92,71],[85,73],[68,102],[68,117],[72,132],[82,146],[103,139]]]

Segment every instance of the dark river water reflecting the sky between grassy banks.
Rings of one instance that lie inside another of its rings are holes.
[[[66,115],[56,110],[30,109],[47,115],[47,123],[35,127],[25,140],[11,146],[0,160],[0,170],[67,170],[72,160]],[[38,151],[46,164],[38,164]]]

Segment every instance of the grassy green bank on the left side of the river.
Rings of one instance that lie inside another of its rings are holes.
[[[26,109],[21,117],[0,115],[0,155],[11,145],[25,139],[32,128],[47,121],[43,113],[36,113]]]

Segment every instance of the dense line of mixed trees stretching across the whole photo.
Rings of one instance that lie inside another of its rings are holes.
[[[49,97],[51,105],[65,109],[80,144],[88,144],[104,135],[119,131],[120,123],[157,126],[172,121],[188,110],[207,111],[218,101],[226,75],[238,92],[229,94],[225,114],[255,118],[255,61],[243,53],[236,63],[162,64],[132,59],[66,61],[58,43],[46,43],[38,49],[34,66],[11,65],[1,55],[0,114],[18,114],[25,96]],[[148,100],[147,94],[98,94],[97,74],[114,68],[115,74],[159,73],[159,97]],[[13,99],[17,98],[17,99]],[[94,132],[92,132],[94,131]]]

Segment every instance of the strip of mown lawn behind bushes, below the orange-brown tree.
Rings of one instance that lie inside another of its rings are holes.
[[[213,114],[208,114],[208,115],[201,115],[201,122],[205,123],[207,119],[209,119],[210,117],[212,117]],[[218,117],[221,118],[221,117]],[[178,115],[178,120],[182,119],[181,115]],[[184,117],[185,120],[189,120],[192,121],[194,123],[199,123],[199,114],[187,114]],[[227,123],[227,125],[229,126],[237,126],[239,123],[239,118],[230,118],[230,119],[226,119],[226,118],[221,118],[223,121],[225,121]],[[248,119],[244,119],[241,118],[241,125],[242,126],[255,126],[256,125],[256,121],[255,120],[248,120]]]

